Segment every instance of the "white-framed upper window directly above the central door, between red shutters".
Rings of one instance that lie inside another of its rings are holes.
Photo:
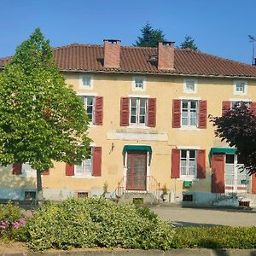
[[[146,125],[147,124],[147,99],[131,98],[130,99],[130,124]]]

